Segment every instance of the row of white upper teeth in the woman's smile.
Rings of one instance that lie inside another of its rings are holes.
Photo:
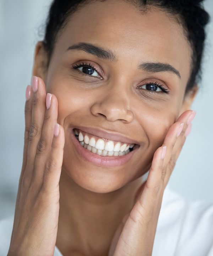
[[[100,150],[123,152],[128,150],[129,148],[133,148],[133,146],[135,145],[135,144],[127,145],[126,143],[123,144],[122,142],[115,142],[115,145],[114,145],[114,142],[112,140],[105,142],[103,139],[97,139],[96,141],[94,137],[89,139],[88,135],[85,134],[83,136],[82,132],[78,133],[77,130],[74,130],[74,133],[78,135],[78,140],[80,142],[84,141],[84,143],[89,144],[90,146],[93,146],[96,149],[100,149]]]

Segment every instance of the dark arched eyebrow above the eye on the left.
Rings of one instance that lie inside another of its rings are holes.
[[[111,51],[111,50],[106,50],[103,49],[102,47],[99,46],[95,46],[94,44],[91,43],[77,43],[77,44],[73,44],[72,46],[70,46],[68,50],[83,50],[87,53],[91,53],[95,56],[97,56],[98,58],[102,58],[105,60],[110,60],[111,62],[115,62],[116,61],[116,56],[115,54]]]

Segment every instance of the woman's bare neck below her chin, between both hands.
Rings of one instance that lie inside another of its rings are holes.
[[[111,239],[133,207],[140,177],[116,191],[95,193],[80,187],[62,169],[56,246],[62,255],[108,255]]]

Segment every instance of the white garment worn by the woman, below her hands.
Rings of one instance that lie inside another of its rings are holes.
[[[0,221],[0,256],[9,250],[13,218]],[[54,256],[62,256],[56,246]],[[213,203],[187,201],[167,185],[152,256],[213,256]]]

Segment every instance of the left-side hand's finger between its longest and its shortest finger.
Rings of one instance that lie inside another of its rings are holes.
[[[33,182],[42,184],[45,166],[51,150],[53,140],[54,124],[58,118],[58,100],[55,95],[48,93],[46,98],[46,112],[42,128],[42,134],[37,145],[34,161]]]

